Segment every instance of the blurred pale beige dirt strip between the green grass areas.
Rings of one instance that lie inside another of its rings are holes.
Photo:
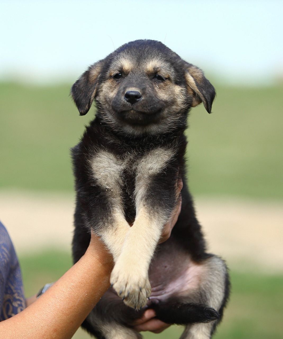
[[[231,198],[197,198],[208,249],[239,267],[283,272],[283,204]],[[0,220],[19,254],[70,249],[72,196],[0,191]]]

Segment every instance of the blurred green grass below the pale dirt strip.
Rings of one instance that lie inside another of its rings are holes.
[[[38,292],[47,282],[57,280],[72,265],[70,254],[48,250],[22,255],[20,264],[26,296]],[[231,267],[232,291],[224,321],[215,339],[280,339],[283,317],[283,275],[266,275],[255,270],[239,272]],[[171,326],[162,334],[146,332],[145,339],[177,339],[182,327]],[[89,338],[79,331],[74,338]]]

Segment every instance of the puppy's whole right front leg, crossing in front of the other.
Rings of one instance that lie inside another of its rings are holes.
[[[171,157],[172,152],[157,149],[136,167],[136,219],[110,277],[118,295],[131,307],[146,305],[151,292],[149,264],[162,228],[177,204],[178,173],[174,166],[168,166]]]

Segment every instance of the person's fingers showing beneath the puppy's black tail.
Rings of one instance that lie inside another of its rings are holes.
[[[146,310],[142,317],[134,322],[134,330],[138,332],[150,331],[154,333],[160,333],[170,326],[169,324],[156,319],[155,316],[156,313],[152,308]]]

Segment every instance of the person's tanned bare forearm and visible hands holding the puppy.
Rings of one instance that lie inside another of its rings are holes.
[[[164,225],[160,242],[169,238],[180,209],[181,202]],[[52,287],[22,312],[0,322],[1,336],[5,339],[72,338],[109,288],[112,268],[112,256],[99,237],[92,235],[85,254]],[[134,324],[135,330],[159,333],[169,326],[154,317],[153,310],[145,311]]]

